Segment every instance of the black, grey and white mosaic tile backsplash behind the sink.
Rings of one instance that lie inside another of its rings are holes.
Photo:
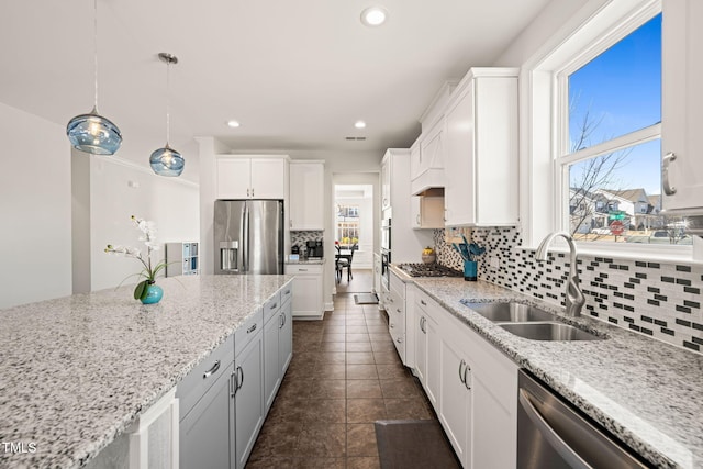
[[[435,230],[437,261],[462,269],[461,257]],[[517,249],[516,227],[475,228],[471,241],[486,247],[479,257],[479,279],[565,305],[568,254],[550,254],[539,263],[535,253]],[[491,267],[498,259],[498,268]],[[596,317],[688,349],[703,351],[703,266],[648,263],[579,255],[581,314]]]

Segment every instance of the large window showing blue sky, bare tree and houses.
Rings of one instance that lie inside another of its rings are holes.
[[[691,244],[661,213],[661,14],[558,82],[565,228],[580,242]]]

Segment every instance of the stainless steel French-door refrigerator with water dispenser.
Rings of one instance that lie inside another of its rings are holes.
[[[283,273],[283,201],[216,200],[215,273]]]

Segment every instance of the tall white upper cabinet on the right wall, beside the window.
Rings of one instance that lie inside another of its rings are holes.
[[[447,226],[517,223],[517,71],[472,68],[447,107]]]

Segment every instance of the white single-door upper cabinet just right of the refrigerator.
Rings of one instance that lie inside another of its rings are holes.
[[[290,228],[324,230],[324,161],[290,163]]]

